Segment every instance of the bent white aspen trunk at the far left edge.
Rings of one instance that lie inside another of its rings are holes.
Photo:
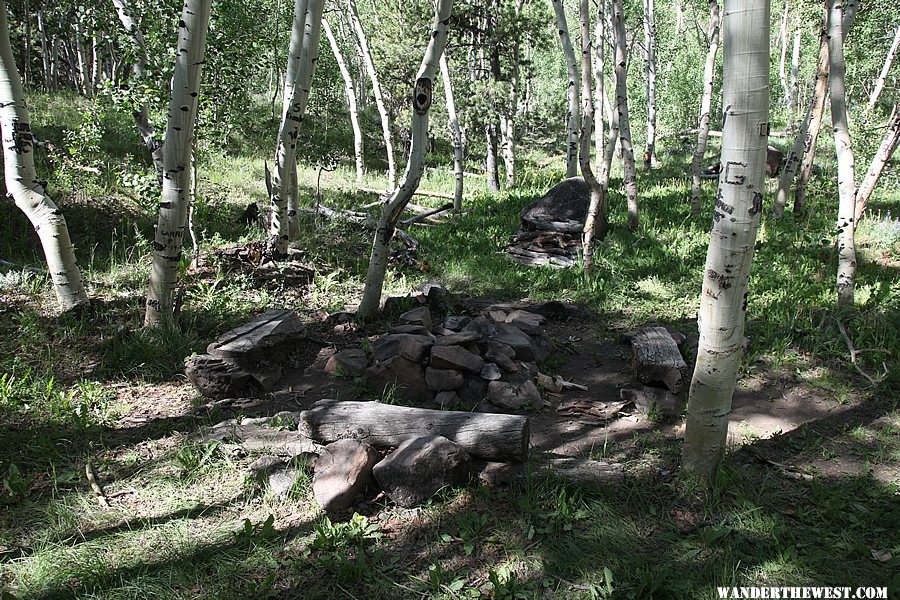
[[[41,240],[56,298],[63,310],[87,304],[66,218],[47,196],[34,170],[34,139],[9,42],[5,0],[0,1],[0,129],[6,189]]]

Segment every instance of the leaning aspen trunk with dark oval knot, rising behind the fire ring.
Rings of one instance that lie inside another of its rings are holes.
[[[433,81],[438,69],[438,62],[447,45],[447,30],[450,24],[452,0],[438,0],[435,6],[435,19],[429,37],[428,48],[413,85],[412,94],[412,127],[409,149],[409,161],[400,186],[385,200],[381,217],[375,230],[372,242],[372,253],[369,256],[369,269],[366,273],[366,285],[363,289],[362,301],[357,316],[371,319],[381,304],[381,291],[384,287],[384,276],[387,272],[388,251],[394,228],[403,209],[419,186],[425,168],[425,149],[428,143],[428,110],[431,108]]]

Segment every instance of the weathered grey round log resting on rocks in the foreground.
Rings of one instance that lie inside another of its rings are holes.
[[[528,417],[393,406],[380,402],[320,400],[300,414],[300,432],[319,442],[355,438],[380,448],[442,435],[473,456],[522,461],[528,453]]]

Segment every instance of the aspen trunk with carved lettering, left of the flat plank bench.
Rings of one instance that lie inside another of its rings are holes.
[[[178,49],[166,125],[162,199],[153,241],[144,327],[170,326],[175,318],[173,292],[184,252],[191,183],[188,163],[211,4],[212,0],[186,0],[178,25]]]

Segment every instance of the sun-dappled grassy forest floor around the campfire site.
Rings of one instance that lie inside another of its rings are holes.
[[[712,486],[678,470],[680,420],[630,413],[605,425],[560,420],[555,405],[585,394],[568,391],[533,415],[535,446],[621,462],[622,485],[531,475],[500,490],[445,490],[414,509],[370,499],[350,520],[331,521],[315,505],[308,469],[279,498],[248,478],[254,455],[193,436],[231,416],[365,397],[319,366],[334,348],[387,327],[338,335],[321,322],[358,301],[370,244],[358,225],[304,215],[294,260],[258,268],[216,259],[218,248],[263,236],[240,220],[248,202],[265,198],[263,158],[212,157],[204,165],[201,262],[184,265],[185,306],[173,330],[140,328],[152,204],[88,175],[77,175],[77,185],[51,181],[51,192],[79,190],[56,198],[95,303],[89,314],[60,315],[45,276],[0,274],[4,600],[716,598],[717,586],[735,585],[900,592],[896,175],[888,174],[889,191],[873,198],[858,228],[857,299],[847,309],[834,306],[833,166],[815,182],[807,216],[764,216],[750,283],[750,350],[729,452]],[[691,216],[683,157],[670,156],[640,174],[642,224],[634,233],[624,226],[614,180],[612,230],[596,275],[526,268],[501,251],[521,207],[559,180],[560,161],[537,167],[544,155],[522,158],[518,189],[489,195],[483,179],[467,178],[467,213],[414,227],[419,255],[392,266],[386,293],[435,280],[461,297],[574,302],[588,316],[549,323],[568,350],[542,369],[587,385],[592,399],[618,399],[632,377],[620,333],[658,323],[696,334],[709,219]],[[446,159],[433,159],[423,187],[451,189]],[[352,193],[344,167],[304,169],[301,180],[307,206],[358,208],[375,199]],[[378,185],[377,177],[367,180]],[[712,202],[710,185],[704,214]],[[40,267],[33,237],[11,203],[0,205],[0,258]],[[306,374],[284,393],[210,407],[184,379],[185,357],[272,307],[297,310],[315,332],[317,342],[295,351],[294,375]],[[861,349],[856,366],[838,323]],[[98,502],[86,465],[109,507]]]

